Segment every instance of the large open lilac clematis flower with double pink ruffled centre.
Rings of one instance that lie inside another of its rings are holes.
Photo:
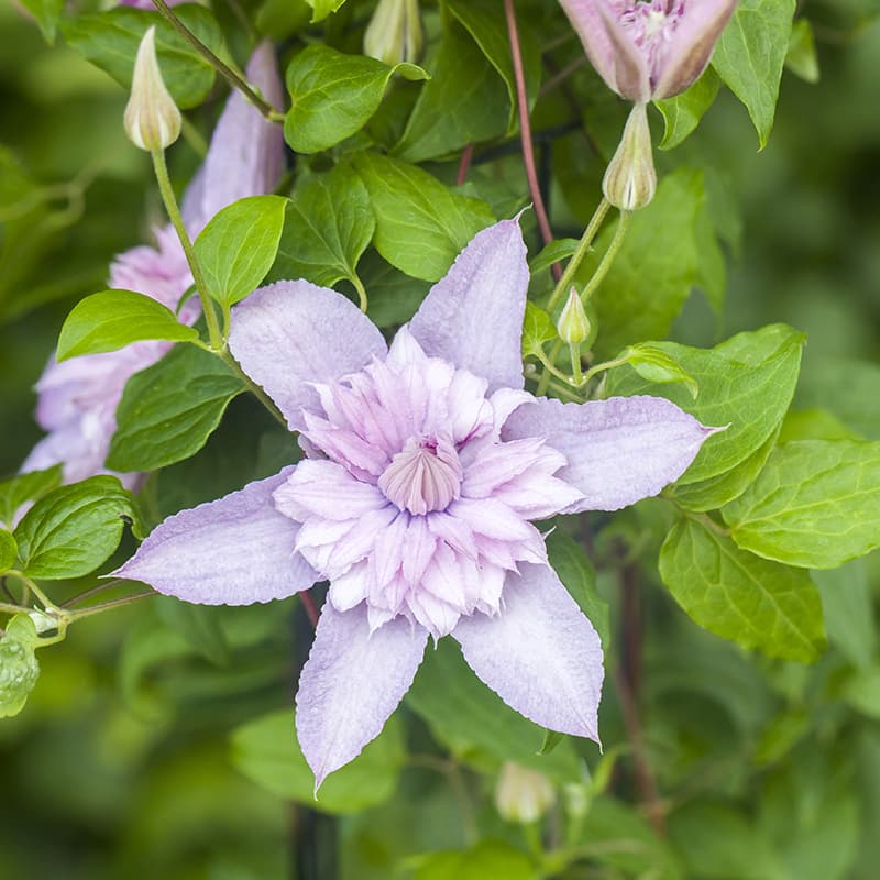
[[[391,348],[346,298],[278,282],[230,348],[308,458],[162,522],[117,576],[242,605],[330,582],[296,726],[316,783],[351,761],[452,635],[516,711],[597,740],[602,649],[534,520],[653,495],[711,432],[668,400],[524,391],[519,226],[480,232]]]

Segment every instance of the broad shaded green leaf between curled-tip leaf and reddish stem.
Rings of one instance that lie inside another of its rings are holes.
[[[461,28],[450,28],[394,154],[407,162],[438,158],[466,144],[502,136],[509,119],[504,84]]]

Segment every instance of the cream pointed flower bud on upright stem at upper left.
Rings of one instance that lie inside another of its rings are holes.
[[[164,150],[180,136],[180,111],[158,68],[155,26],[147,30],[138,48],[123,120],[125,134],[141,150]]]

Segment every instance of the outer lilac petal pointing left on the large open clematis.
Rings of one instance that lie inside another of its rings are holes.
[[[318,575],[294,552],[297,524],[272,504],[292,470],[168,517],[116,576],[202,605],[250,605],[307,590]]]

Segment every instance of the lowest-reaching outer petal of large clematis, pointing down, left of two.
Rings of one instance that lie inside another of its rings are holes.
[[[326,604],[296,695],[299,745],[316,791],[378,736],[409,690],[428,634],[397,618],[371,635],[363,606]]]

